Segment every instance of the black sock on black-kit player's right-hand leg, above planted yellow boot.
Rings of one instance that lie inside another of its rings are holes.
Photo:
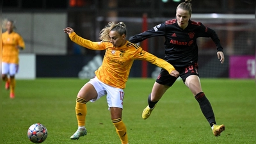
[[[205,97],[204,92],[197,93],[195,99],[198,101],[202,113],[212,127],[212,125],[216,124],[216,122],[209,100],[207,99],[207,97]]]

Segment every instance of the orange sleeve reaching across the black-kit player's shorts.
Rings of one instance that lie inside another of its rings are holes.
[[[173,65],[161,58],[157,58],[157,56],[154,56],[147,51],[144,51],[141,47],[139,47],[139,49],[135,52],[133,58],[134,60],[145,60],[152,63],[153,65],[156,65],[157,67],[164,68],[169,72],[169,74],[175,70]]]

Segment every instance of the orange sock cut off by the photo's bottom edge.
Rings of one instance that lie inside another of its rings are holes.
[[[122,118],[117,118],[115,120],[112,120],[113,125],[116,127],[116,133],[118,134],[120,140],[122,141],[122,144],[128,143],[128,136],[127,131],[124,122],[122,121]]]

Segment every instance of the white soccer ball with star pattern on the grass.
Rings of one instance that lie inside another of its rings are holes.
[[[48,135],[47,129],[44,125],[37,123],[28,128],[28,138],[33,143],[42,143],[46,140]]]

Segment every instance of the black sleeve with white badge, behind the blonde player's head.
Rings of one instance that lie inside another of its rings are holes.
[[[129,39],[129,42],[137,44],[138,42],[141,42],[147,38],[151,38],[154,36],[164,36],[164,34],[165,34],[165,22],[163,22],[162,24],[158,24],[157,26],[154,26],[154,28],[148,29],[143,33],[132,36]]]

